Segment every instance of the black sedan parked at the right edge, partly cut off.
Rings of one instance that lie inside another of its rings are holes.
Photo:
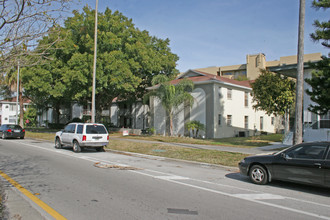
[[[302,143],[273,155],[244,158],[241,174],[256,184],[284,180],[330,187],[330,142]]]

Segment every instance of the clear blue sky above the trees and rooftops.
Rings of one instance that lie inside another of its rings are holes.
[[[329,20],[329,10],[316,10],[306,0],[304,52],[327,55],[313,42],[313,22]],[[80,0],[95,9],[95,0]],[[170,40],[179,56],[177,69],[246,63],[247,54],[264,53],[266,60],[297,54],[299,0],[99,0],[98,11],[118,10],[140,30]]]

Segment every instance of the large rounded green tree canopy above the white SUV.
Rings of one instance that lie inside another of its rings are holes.
[[[89,7],[81,13],[74,11],[64,27],[58,27],[62,40],[49,48],[48,64],[26,69],[25,93],[33,101],[55,105],[72,101],[86,104],[91,100],[94,13]],[[39,45],[47,45],[57,37],[50,34]],[[171,52],[168,39],[150,36],[136,28],[131,19],[109,8],[98,15],[97,51],[97,115],[115,97],[141,98],[153,76],[178,73],[178,57]]]

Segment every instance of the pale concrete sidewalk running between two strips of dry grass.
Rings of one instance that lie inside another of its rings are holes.
[[[187,147],[187,148],[195,148],[195,149],[208,149],[208,150],[218,150],[218,151],[226,151],[233,153],[242,153],[242,154],[264,154],[264,153],[272,153],[278,151],[278,149],[283,147],[288,147],[288,145],[284,145],[279,142],[274,142],[269,146],[264,147],[254,147],[254,148],[241,148],[241,147],[227,147],[227,146],[218,146],[218,145],[199,145],[199,144],[183,144],[183,143],[168,143],[161,141],[146,141],[146,140],[137,140],[137,139],[129,139],[129,138],[116,138],[110,137],[110,140],[125,140],[130,142],[139,142],[139,143],[151,143],[151,144],[163,144],[177,147]]]

